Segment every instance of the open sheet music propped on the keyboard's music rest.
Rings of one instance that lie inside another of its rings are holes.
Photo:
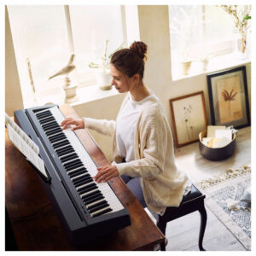
[[[7,131],[11,142],[14,143],[16,148],[18,148],[20,152],[26,156],[27,160],[31,161],[32,164],[38,168],[39,172],[41,172],[45,177],[48,177],[44,168],[44,160],[42,160],[38,155],[38,145],[34,143],[32,139],[28,137],[26,133],[22,131],[7,114],[5,114],[5,120],[7,120],[8,123]]]

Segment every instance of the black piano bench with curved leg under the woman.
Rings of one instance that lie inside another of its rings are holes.
[[[161,232],[166,236],[166,224],[176,218],[183,217],[191,212],[199,211],[201,214],[201,227],[199,233],[198,246],[201,251],[205,251],[202,247],[202,241],[207,226],[207,211],[204,205],[204,199],[206,195],[203,195],[194,184],[192,184],[189,194],[183,196],[183,201],[179,207],[167,207],[163,216],[159,215],[157,226]],[[166,251],[166,245],[161,244],[161,251]]]

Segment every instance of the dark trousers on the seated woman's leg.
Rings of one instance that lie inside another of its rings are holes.
[[[125,174],[121,175],[121,178],[124,180],[125,184],[131,190],[131,193],[135,195],[137,201],[143,206],[143,208],[147,207],[146,202],[144,201],[143,189],[139,182],[138,177],[130,177]]]

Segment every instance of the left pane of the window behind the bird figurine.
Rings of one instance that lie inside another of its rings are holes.
[[[35,88],[44,91],[56,83],[48,78],[63,67],[69,57],[63,6],[8,6],[10,27],[24,99],[29,76],[26,58],[31,61]],[[60,85],[63,85],[59,83]]]

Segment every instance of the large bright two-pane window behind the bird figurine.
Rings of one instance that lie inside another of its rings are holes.
[[[105,40],[109,55],[125,38],[120,6],[10,5],[8,12],[24,102],[30,89],[27,58],[37,94],[44,96],[61,90],[63,77],[48,79],[67,64],[71,52],[76,55],[73,79],[79,86],[96,84],[90,61],[100,61]]]

